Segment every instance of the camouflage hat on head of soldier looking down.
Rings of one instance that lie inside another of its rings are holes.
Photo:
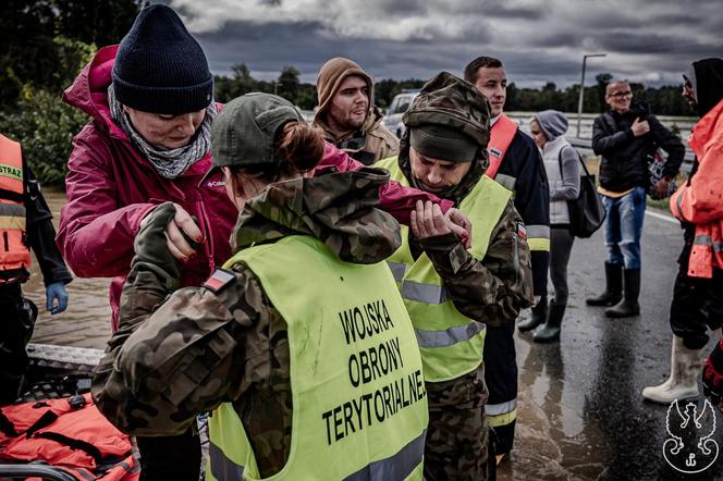
[[[490,103],[469,82],[440,72],[421,87],[402,116],[407,128],[442,125],[458,130],[480,147],[490,141]]]

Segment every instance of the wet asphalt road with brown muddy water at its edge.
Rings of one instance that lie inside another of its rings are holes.
[[[538,345],[529,334],[516,334],[517,433],[500,479],[723,479],[721,459],[699,474],[667,465],[669,406],[644,402],[640,394],[669,375],[667,312],[682,246],[676,222],[646,215],[641,314],[612,320],[604,308],[585,304],[604,282],[602,232],[575,240],[561,343]],[[723,446],[723,415],[716,415],[712,439]]]

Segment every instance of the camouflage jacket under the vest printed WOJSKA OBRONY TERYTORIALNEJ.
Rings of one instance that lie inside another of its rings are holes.
[[[273,184],[246,203],[232,244],[307,234],[343,260],[379,262],[401,244],[396,221],[373,207],[388,178],[363,169]],[[120,330],[94,379],[99,409],[124,432],[172,435],[196,414],[233,403],[260,473],[278,472],[291,446],[290,355],[286,324],[259,281],[236,264],[222,288],[171,294],[162,266],[137,258],[121,297]]]

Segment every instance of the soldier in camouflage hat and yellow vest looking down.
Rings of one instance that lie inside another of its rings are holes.
[[[513,323],[532,300],[529,248],[510,190],[485,175],[489,103],[448,73],[421,89],[403,121],[392,178],[450,199],[471,220],[471,247],[417,202],[388,262],[417,333],[429,397],[425,478],[486,479],[486,325]],[[422,256],[424,254],[424,256]]]

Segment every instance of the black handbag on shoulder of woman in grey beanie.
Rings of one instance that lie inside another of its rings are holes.
[[[575,149],[571,146],[571,148]],[[595,185],[595,175],[590,174],[587,170],[580,152],[575,149],[577,158],[583,166],[580,174],[580,189],[576,199],[567,200],[567,210],[569,212],[569,229],[575,237],[587,238],[600,229],[602,222],[605,220],[605,206],[598,195],[598,189]],[[562,149],[557,156],[557,163],[560,164],[560,176],[562,177]]]

